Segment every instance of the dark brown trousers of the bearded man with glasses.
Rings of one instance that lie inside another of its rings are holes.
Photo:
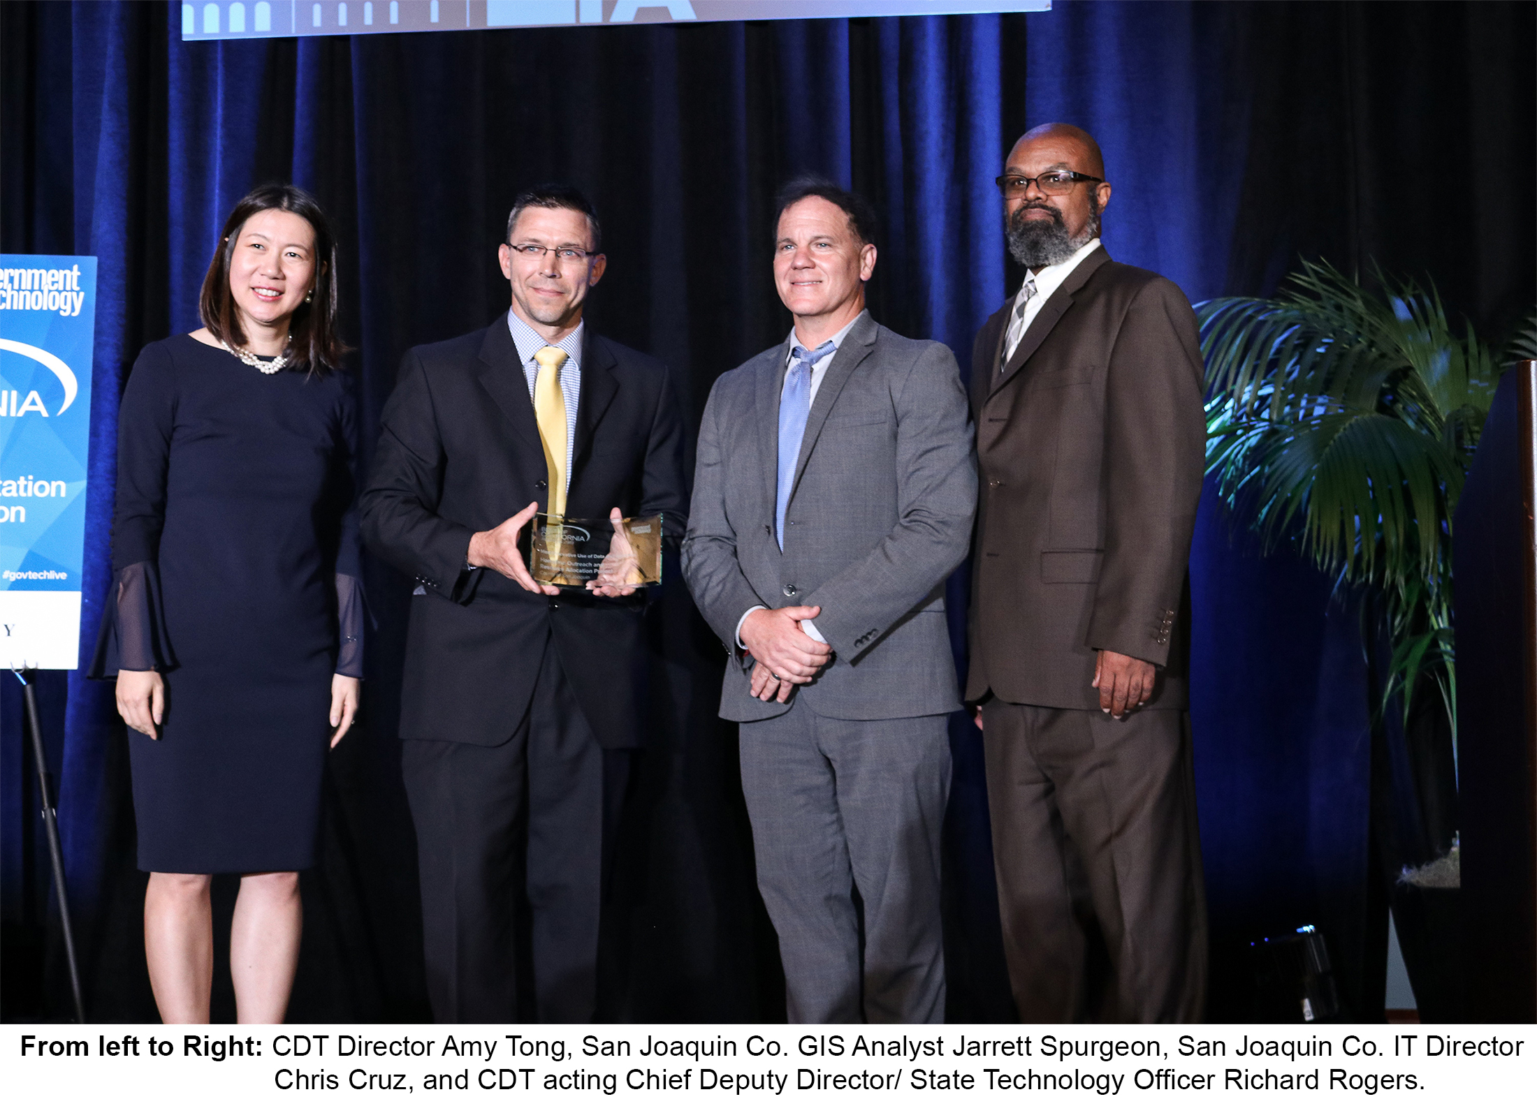
[[[1199,1022],[1207,906],[1183,714],[982,707],[1021,1022]],[[1088,968],[1097,928],[1110,979]]]

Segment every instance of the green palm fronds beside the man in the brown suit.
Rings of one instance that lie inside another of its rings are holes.
[[[1434,682],[1456,748],[1452,513],[1499,367],[1434,289],[1376,283],[1305,261],[1274,300],[1196,309],[1207,473],[1266,548],[1294,542],[1376,599],[1391,644],[1382,708],[1400,694],[1408,719]]]

